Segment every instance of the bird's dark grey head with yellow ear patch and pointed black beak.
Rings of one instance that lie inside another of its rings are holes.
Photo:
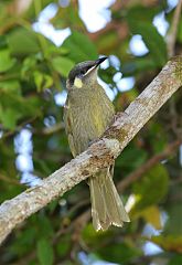
[[[86,61],[78,63],[71,70],[66,86],[67,89],[92,86],[97,82],[97,67],[107,57],[100,57],[96,61]]]

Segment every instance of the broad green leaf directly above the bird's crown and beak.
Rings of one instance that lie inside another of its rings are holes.
[[[64,41],[63,47],[68,49],[68,56],[74,62],[96,60],[98,57],[94,43],[88,39],[88,36],[77,31],[73,31],[72,35]]]

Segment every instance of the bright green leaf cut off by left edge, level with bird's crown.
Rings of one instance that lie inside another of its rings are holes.
[[[8,49],[0,50],[0,72],[10,70],[15,63],[15,59],[10,56]]]

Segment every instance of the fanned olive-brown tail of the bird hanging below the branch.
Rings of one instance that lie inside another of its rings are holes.
[[[130,221],[109,169],[90,177],[89,189],[95,230],[107,230],[111,224],[122,226],[124,222]]]

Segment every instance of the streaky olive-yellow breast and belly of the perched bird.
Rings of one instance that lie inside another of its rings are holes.
[[[84,151],[92,140],[100,137],[113,119],[114,107],[106,94],[101,93],[79,89],[69,94],[72,131],[78,152]]]

